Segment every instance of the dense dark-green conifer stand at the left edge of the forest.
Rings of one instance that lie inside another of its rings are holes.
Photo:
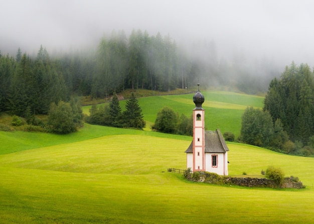
[[[59,64],[43,47],[34,59],[20,49],[16,58],[0,57],[0,111],[25,117],[29,108],[48,114],[50,105],[60,100],[70,100],[69,90]]]

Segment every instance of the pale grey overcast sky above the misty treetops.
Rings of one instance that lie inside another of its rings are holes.
[[[214,41],[218,55],[242,52],[314,66],[314,1],[1,0],[0,50],[32,54],[97,45],[132,29],[180,43]],[[11,53],[11,52],[10,52]]]

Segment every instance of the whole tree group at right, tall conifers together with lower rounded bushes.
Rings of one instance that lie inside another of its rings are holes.
[[[289,154],[314,154],[313,93],[309,66],[292,62],[269,83],[263,110],[245,110],[241,140]]]

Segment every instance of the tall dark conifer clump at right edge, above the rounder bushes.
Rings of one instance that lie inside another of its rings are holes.
[[[280,119],[292,141],[307,144],[314,134],[314,76],[306,64],[286,66],[280,80],[270,82],[264,110]]]

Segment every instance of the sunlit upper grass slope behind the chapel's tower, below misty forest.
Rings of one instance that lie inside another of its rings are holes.
[[[205,102],[205,126],[208,130],[220,128],[222,133],[231,131],[236,137],[240,135],[241,116],[248,106],[255,108],[263,107],[263,97],[230,93],[223,91],[202,91]],[[193,103],[194,94],[168,95],[138,98],[139,105],[146,121],[146,130],[155,122],[157,113],[164,107],[169,106],[179,115],[190,117],[195,108]],[[125,107],[125,100],[120,101],[121,108]],[[91,106],[83,107],[83,112],[89,114]],[[213,122],[214,121],[214,122]]]

